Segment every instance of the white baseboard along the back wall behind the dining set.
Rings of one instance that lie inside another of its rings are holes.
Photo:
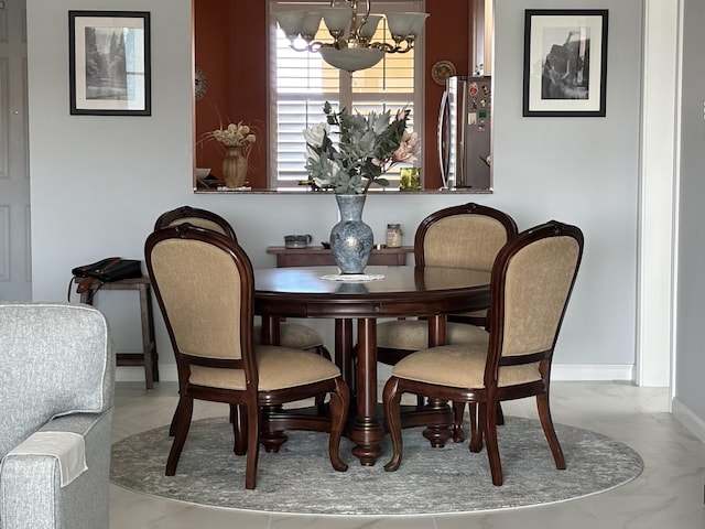
[[[554,364],[551,378],[553,380],[633,380],[634,366],[608,364]],[[178,380],[175,364],[159,366],[160,380],[175,382]],[[139,382],[144,380],[142,367],[118,367],[116,379],[119,382]]]

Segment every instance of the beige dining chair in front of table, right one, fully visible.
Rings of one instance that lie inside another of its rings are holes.
[[[497,404],[533,396],[555,466],[565,468],[549,388],[553,352],[582,256],[581,229],[555,220],[523,231],[500,250],[491,271],[488,344],[422,349],[394,366],[382,397],[392,442],[384,469],[395,471],[401,463],[404,392],[477,404],[479,427],[473,427],[469,449],[479,452],[486,441],[495,485],[502,484]]]

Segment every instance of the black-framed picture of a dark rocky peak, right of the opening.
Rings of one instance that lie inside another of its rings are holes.
[[[607,13],[525,11],[524,116],[605,116]]]

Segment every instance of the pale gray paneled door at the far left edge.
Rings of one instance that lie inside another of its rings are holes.
[[[26,1],[0,0],[0,300],[30,301]]]

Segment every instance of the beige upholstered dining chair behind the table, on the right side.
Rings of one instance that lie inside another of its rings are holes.
[[[424,218],[414,236],[417,267],[471,268],[490,271],[505,244],[517,236],[517,223],[507,213],[476,203],[451,206]],[[487,311],[448,316],[448,344],[486,344]],[[393,366],[405,356],[429,347],[424,320],[397,320],[377,326],[377,358]],[[423,406],[419,399],[417,407]],[[454,406],[454,439],[463,441],[465,406]],[[471,412],[471,410],[470,410]],[[501,407],[499,423],[503,422]]]

